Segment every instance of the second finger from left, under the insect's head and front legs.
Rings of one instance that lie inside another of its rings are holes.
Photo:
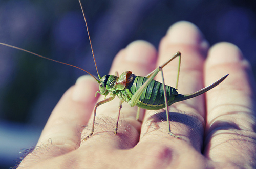
[[[145,41],[135,41],[117,54],[110,74],[118,71],[120,75],[122,72],[130,70],[136,75],[144,76],[155,68],[155,61],[156,49]],[[103,99],[104,96],[100,97],[99,101]],[[113,147],[127,148],[137,144],[141,126],[135,118],[137,107],[131,107],[126,102],[122,104],[117,135],[114,135],[119,101],[120,99],[116,97],[97,108],[94,134],[84,142],[86,145],[97,144],[98,146],[100,142],[101,146],[111,147],[110,145],[112,145]],[[84,137],[89,135],[91,128],[92,126],[88,126],[83,131]],[[102,139],[104,139],[103,144]]]

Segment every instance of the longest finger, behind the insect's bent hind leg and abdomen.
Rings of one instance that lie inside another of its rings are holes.
[[[158,65],[161,65],[172,57],[173,53],[177,51],[182,53],[178,85],[178,92],[180,94],[189,94],[203,88],[202,69],[207,49],[207,42],[204,40],[200,30],[189,22],[178,22],[174,24],[162,39],[159,46]],[[164,80],[167,85],[176,85],[177,70],[178,59],[170,62],[163,68]],[[157,80],[162,82],[161,76],[158,76]],[[183,114],[175,114],[174,112],[177,109],[179,112],[183,112]],[[174,121],[182,122],[175,123],[171,121],[172,132],[182,136],[183,139],[188,137],[191,139],[191,144],[195,144],[194,146],[200,150],[203,137],[202,123],[204,121],[203,96],[175,103],[169,107],[169,110],[172,112],[170,118]],[[148,111],[148,114],[145,114],[142,130],[144,134],[148,133],[146,139],[148,137],[155,139],[155,134],[159,135],[159,130],[156,129],[159,128],[165,139],[162,139],[162,137],[158,138],[161,139],[161,142],[168,143],[168,139],[172,139],[173,137],[168,135],[165,112],[156,113],[156,111]],[[174,141],[180,142],[179,139]]]

